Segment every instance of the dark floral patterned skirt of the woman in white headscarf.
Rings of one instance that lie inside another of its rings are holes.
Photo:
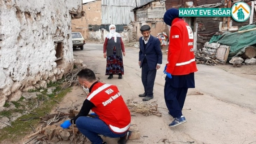
[[[116,56],[116,49],[112,56],[107,56],[106,75],[124,74],[123,56]]]

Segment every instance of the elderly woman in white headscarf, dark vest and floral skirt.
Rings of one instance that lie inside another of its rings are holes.
[[[106,75],[109,75],[108,79],[112,79],[113,75],[118,75],[118,79],[122,79],[124,74],[124,43],[121,35],[116,32],[115,25],[110,25],[109,31],[103,45],[104,58],[107,58]]]

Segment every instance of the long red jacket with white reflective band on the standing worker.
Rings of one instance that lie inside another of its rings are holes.
[[[197,71],[193,51],[193,31],[180,18],[172,21],[166,71],[171,75],[187,75]]]

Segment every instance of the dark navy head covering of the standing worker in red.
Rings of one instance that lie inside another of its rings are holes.
[[[163,16],[163,21],[171,26],[172,21],[174,20],[174,18],[183,18],[183,17],[179,17],[179,10],[175,9],[175,8],[171,8],[166,10],[165,15]]]

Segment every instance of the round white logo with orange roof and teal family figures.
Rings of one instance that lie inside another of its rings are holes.
[[[248,4],[243,2],[235,3],[231,8],[231,16],[235,21],[244,22],[251,15],[251,9]]]

